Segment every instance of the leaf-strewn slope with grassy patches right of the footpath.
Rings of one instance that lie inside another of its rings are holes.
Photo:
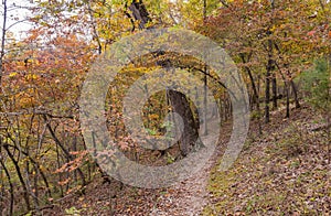
[[[308,107],[291,120],[274,118],[261,138],[249,137],[232,169],[213,169],[203,215],[330,214],[330,134],[321,129],[323,119]]]

